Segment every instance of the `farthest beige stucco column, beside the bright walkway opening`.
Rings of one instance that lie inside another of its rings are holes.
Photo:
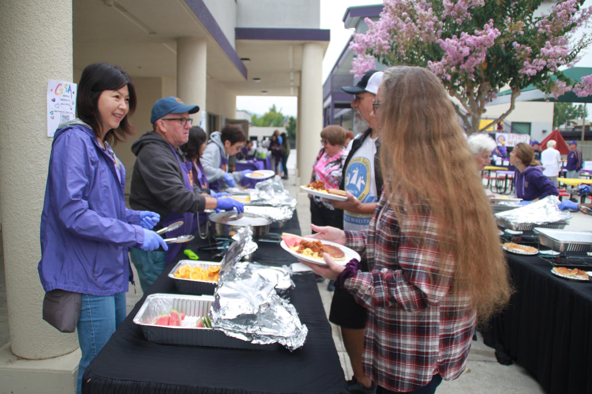
[[[323,47],[318,43],[305,43],[302,57],[298,95],[298,175],[301,184],[306,184],[318,153],[323,129]]]

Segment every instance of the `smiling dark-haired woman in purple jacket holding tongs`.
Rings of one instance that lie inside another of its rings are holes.
[[[78,393],[86,367],[126,317],[128,248],[168,249],[149,230],[158,214],[126,208],[126,170],[110,146],[133,134],[126,115],[135,108],[130,76],[116,66],[91,64],[78,84],[78,118],[61,123],[53,138],[38,271],[46,300],[60,313],[77,314],[75,304],[63,300],[81,294]]]

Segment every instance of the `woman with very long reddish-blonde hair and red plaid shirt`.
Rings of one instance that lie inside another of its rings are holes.
[[[508,269],[437,77],[421,67],[385,70],[374,112],[385,187],[368,230],[313,226],[314,237],[361,252],[370,272],[327,254],[327,266],[309,266],[368,308],[363,364],[377,393],[435,392],[464,371],[477,322],[508,301]]]

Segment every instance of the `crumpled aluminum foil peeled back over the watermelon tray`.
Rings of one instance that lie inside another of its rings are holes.
[[[303,346],[308,333],[294,305],[279,297],[276,289],[294,282],[282,268],[239,262],[252,232],[248,227],[235,235],[220,269],[211,309],[214,330],[258,344],[279,343],[290,351]],[[249,234],[250,233],[250,234]]]

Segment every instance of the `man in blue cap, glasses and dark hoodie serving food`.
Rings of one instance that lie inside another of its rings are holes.
[[[156,100],[152,107],[152,131],[144,133],[133,145],[136,155],[131,177],[130,206],[150,210],[160,215],[155,230],[182,221],[177,229],[166,232],[165,238],[191,235],[197,221],[197,211],[205,209],[237,209],[243,204],[232,198],[211,197],[194,184],[191,162],[186,162],[179,146],[189,139],[193,119],[189,115],[200,110],[197,105],[186,105],[178,97]],[[136,266],[140,285],[145,292],[156,278],[172,263],[182,243],[172,243],[169,250],[144,252],[130,249],[131,261]]]

